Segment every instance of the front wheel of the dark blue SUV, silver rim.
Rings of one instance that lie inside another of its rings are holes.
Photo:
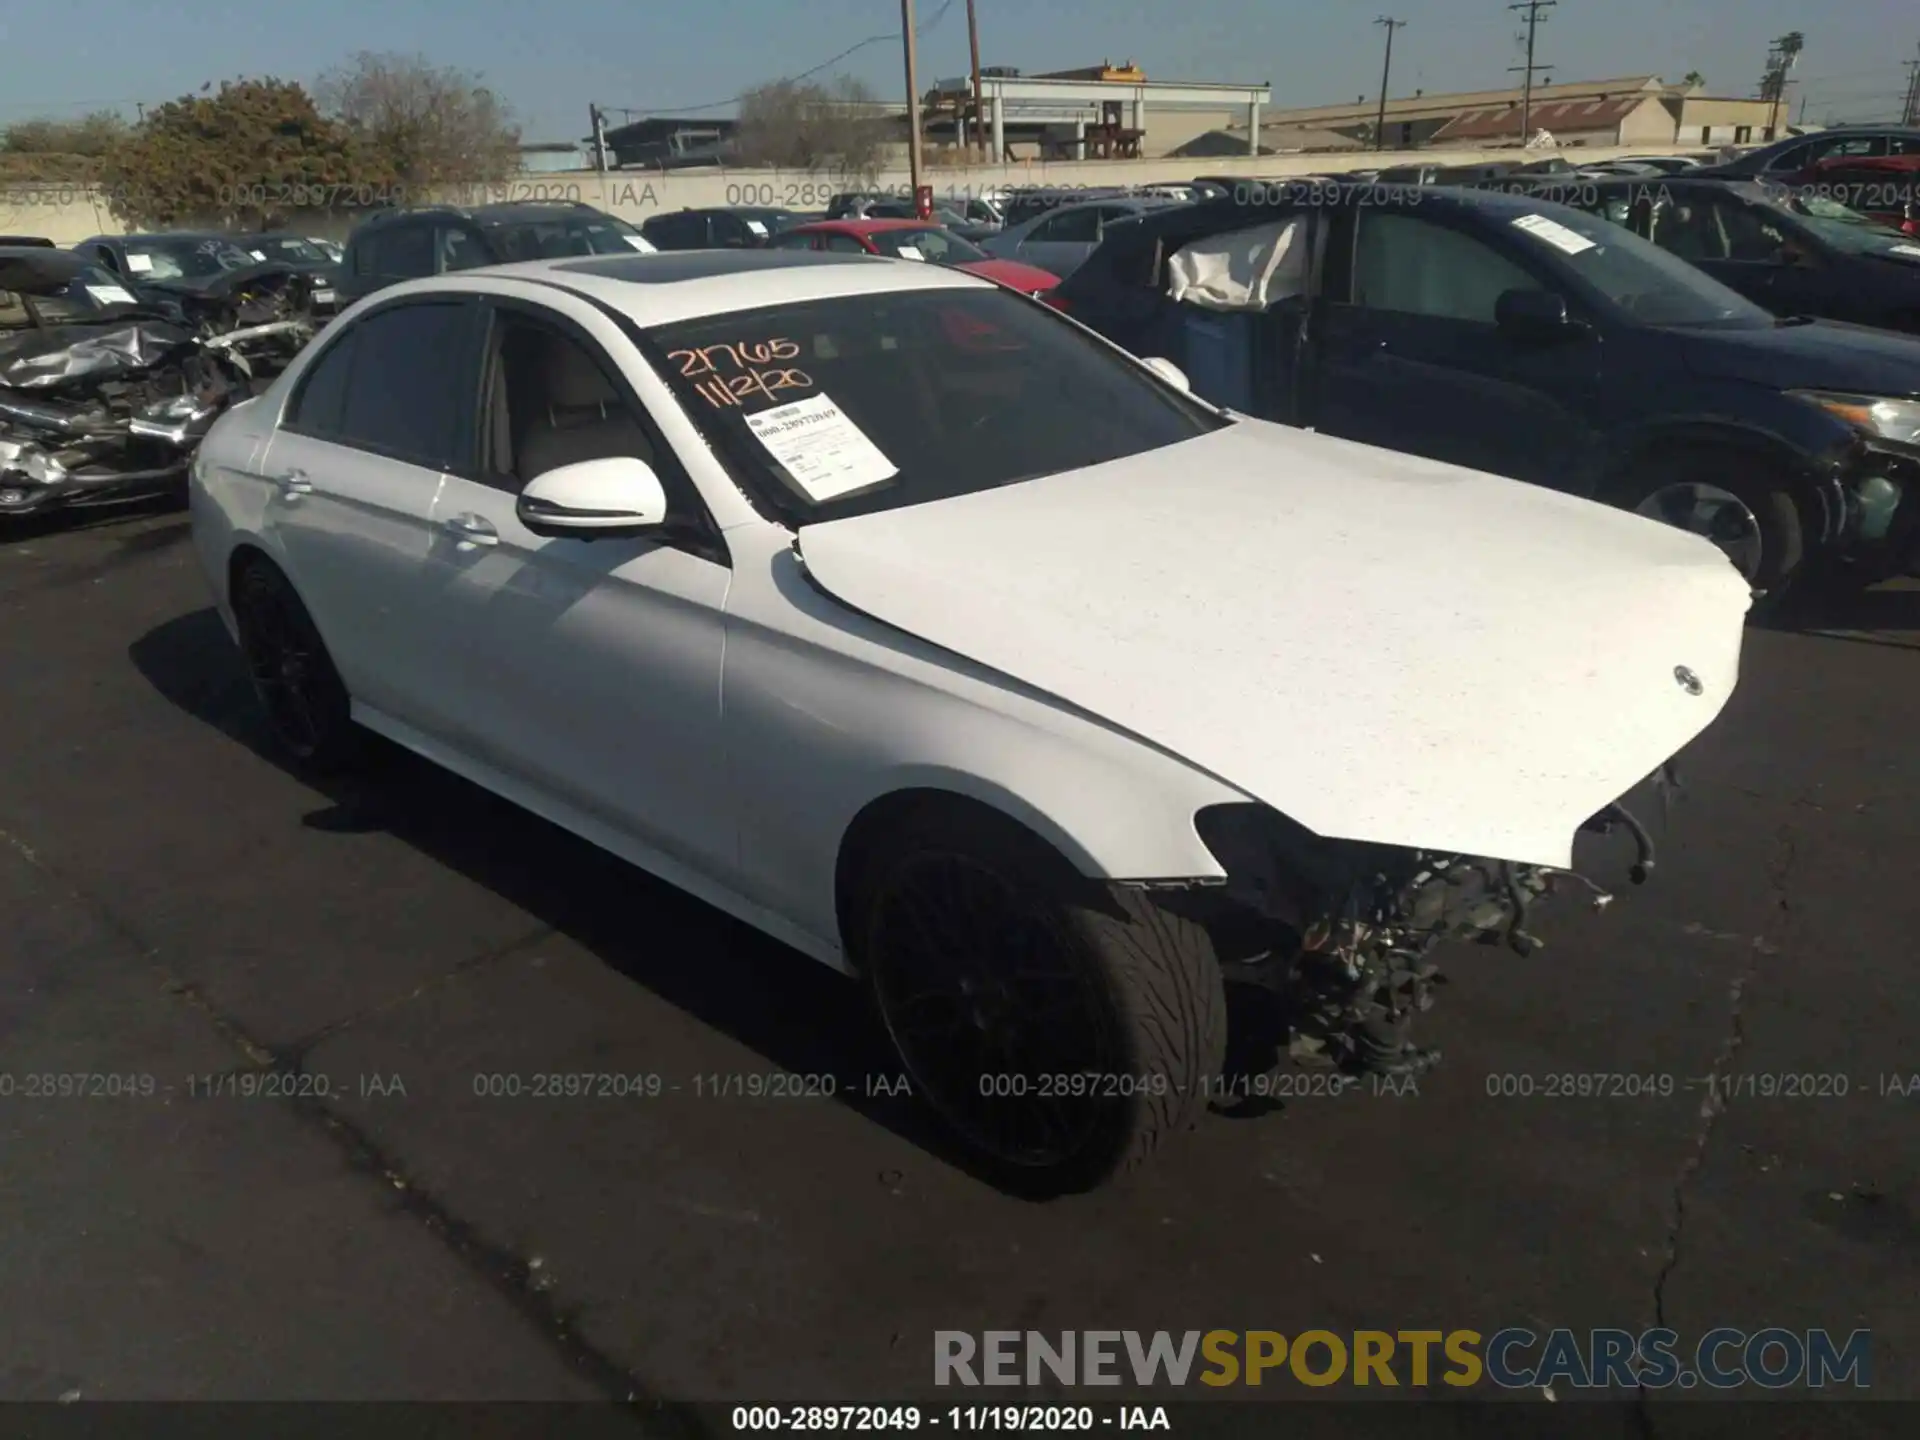
[[[1655,461],[1617,492],[1626,509],[1711,540],[1776,603],[1807,559],[1807,534],[1791,480],[1740,451],[1699,451]]]

